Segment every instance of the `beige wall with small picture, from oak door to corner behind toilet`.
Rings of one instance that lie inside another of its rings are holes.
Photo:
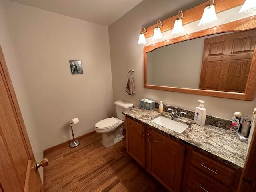
[[[0,0],[0,44],[36,159],[114,114],[108,27]],[[84,74],[71,75],[69,60]]]

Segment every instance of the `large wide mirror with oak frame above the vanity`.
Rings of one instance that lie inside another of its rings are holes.
[[[253,100],[254,22],[245,18],[144,47],[144,88]],[[227,48],[230,42],[236,47]]]

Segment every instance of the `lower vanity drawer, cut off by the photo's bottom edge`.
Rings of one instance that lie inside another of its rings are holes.
[[[230,189],[196,170],[192,166],[190,166],[188,177],[188,189],[192,192],[230,192]]]

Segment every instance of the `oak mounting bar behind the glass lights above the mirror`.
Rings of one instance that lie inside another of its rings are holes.
[[[184,19],[182,19],[182,24],[185,25],[185,24],[194,22],[196,20],[200,20],[203,15],[204,8],[208,3],[209,3],[209,1],[206,1],[198,6],[195,6],[189,10],[184,11],[183,12]],[[225,1],[224,0],[214,0],[214,3],[215,3],[215,11],[217,14],[219,12],[242,5],[244,3],[244,0],[225,0]],[[182,7],[180,9],[182,10]],[[173,28],[174,20],[177,18],[177,15],[178,14],[176,14],[166,20],[163,20],[163,21],[161,20],[162,25],[163,25],[161,28],[161,32],[165,32],[165,31],[171,30]],[[155,26],[156,26],[156,24],[146,28],[147,33],[145,34],[145,38],[153,36]]]

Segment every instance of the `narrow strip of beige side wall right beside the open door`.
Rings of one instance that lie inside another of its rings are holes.
[[[12,84],[15,89],[16,97],[20,109],[22,111],[22,116],[26,124],[27,132],[30,138],[30,143],[34,150],[34,155],[39,161],[43,158],[42,146],[39,142],[39,134],[37,130],[34,129],[36,124],[31,114],[29,98],[25,90],[24,74],[22,73],[22,68],[18,59],[18,55],[15,49],[15,44],[13,42],[10,25],[8,25],[8,20],[6,18],[6,2],[0,0],[0,45],[4,52],[4,58],[6,64],[8,65],[8,70],[12,79]],[[42,176],[42,169],[39,169]]]

